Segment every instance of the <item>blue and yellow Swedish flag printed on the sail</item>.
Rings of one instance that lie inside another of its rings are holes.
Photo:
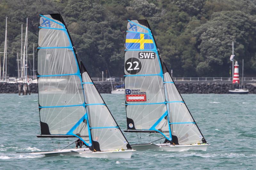
[[[127,33],[125,40],[126,49],[154,49],[154,43],[148,34],[143,33]]]

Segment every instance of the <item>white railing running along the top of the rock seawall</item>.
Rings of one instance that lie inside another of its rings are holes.
[[[232,81],[230,77],[174,77],[173,81]],[[124,78],[92,78],[93,81],[123,82]],[[242,81],[242,78],[240,78]],[[244,77],[244,81],[256,81],[256,77]]]

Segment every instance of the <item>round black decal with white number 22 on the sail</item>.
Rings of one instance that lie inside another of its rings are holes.
[[[141,63],[138,58],[132,57],[126,60],[124,67],[129,74],[137,74],[141,70]]]

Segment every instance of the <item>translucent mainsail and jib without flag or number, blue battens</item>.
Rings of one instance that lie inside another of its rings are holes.
[[[37,52],[38,137],[78,137],[94,151],[131,149],[78,58],[60,14],[40,15]]]

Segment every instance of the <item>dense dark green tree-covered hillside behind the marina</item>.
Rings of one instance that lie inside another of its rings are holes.
[[[2,0],[0,52],[7,16],[7,51],[12,52],[7,55],[7,72],[16,76],[21,24],[24,40],[28,17],[28,54],[32,54],[39,14],[60,12],[90,75],[101,76],[108,69],[111,76],[122,76],[127,19],[148,18],[174,77],[229,76],[232,41],[235,59],[240,65],[244,59],[246,75],[255,76],[255,4],[253,0]],[[32,55],[28,59],[32,63]]]

